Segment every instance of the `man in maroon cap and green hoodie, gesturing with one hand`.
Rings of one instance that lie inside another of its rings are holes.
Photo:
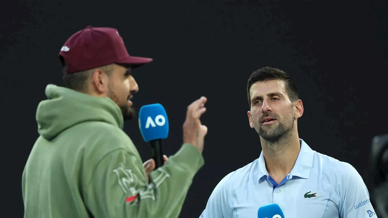
[[[132,69],[117,29],[88,26],[59,53],[66,87],[47,85],[36,140],[23,171],[24,217],[178,217],[203,166],[206,98],[187,107],[181,149],[154,170],[122,130],[135,113]],[[151,181],[151,182],[150,182]]]

